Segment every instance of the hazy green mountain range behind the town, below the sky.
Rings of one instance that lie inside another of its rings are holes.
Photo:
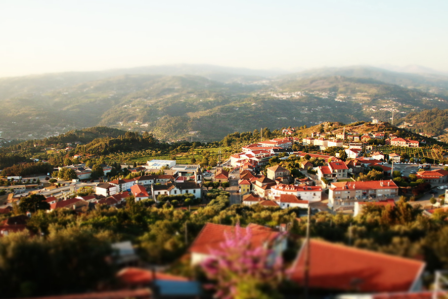
[[[0,78],[3,138],[95,125],[209,141],[262,127],[388,120],[448,109],[448,76],[374,67],[287,73],[170,65]]]

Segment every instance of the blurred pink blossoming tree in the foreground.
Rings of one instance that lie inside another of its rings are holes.
[[[202,263],[215,297],[223,299],[276,298],[277,286],[283,278],[282,258],[260,244],[251,244],[252,232],[237,224],[233,234],[226,234],[220,249]]]

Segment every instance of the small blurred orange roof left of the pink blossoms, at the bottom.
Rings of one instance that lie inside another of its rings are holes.
[[[188,281],[188,278],[167,273],[154,272],[140,268],[124,268],[117,273],[117,278],[127,285],[148,285],[156,280]]]

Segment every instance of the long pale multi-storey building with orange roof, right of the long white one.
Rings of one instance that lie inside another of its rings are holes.
[[[398,199],[398,186],[392,180],[336,182],[328,189],[328,206],[352,209],[356,201]]]

